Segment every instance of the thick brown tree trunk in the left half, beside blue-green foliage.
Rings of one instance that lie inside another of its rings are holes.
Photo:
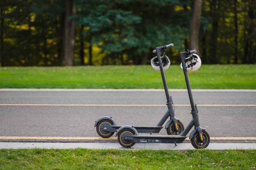
[[[72,66],[75,45],[75,21],[69,20],[70,16],[76,14],[75,0],[65,0],[66,14],[64,20],[64,58],[65,65]]]

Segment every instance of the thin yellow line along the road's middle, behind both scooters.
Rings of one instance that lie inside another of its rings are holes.
[[[135,106],[135,107],[150,107],[150,106],[166,106],[166,105],[93,105],[93,104],[0,104],[0,106]],[[190,106],[190,105],[175,105],[175,106]],[[246,106],[246,107],[256,107],[256,105],[197,105],[203,107],[234,107],[234,106]]]

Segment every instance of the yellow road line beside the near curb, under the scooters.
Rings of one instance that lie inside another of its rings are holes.
[[[116,137],[44,137],[44,136],[0,136],[0,139],[34,139],[34,140],[117,140]],[[188,137],[186,138],[189,139]],[[211,140],[256,140],[256,137],[211,137]]]

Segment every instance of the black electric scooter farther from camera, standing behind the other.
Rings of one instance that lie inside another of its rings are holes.
[[[169,44],[164,46],[163,49],[169,48],[173,46],[173,44]],[[160,53],[158,54],[160,56]],[[162,65],[162,62],[161,62]],[[163,72],[163,68],[160,70],[162,74],[163,79],[163,85],[166,93],[166,99],[167,99],[167,108],[168,110],[163,115],[162,119],[157,123],[156,126],[132,126],[133,129],[135,129],[136,133],[159,133],[160,130],[163,128],[164,122],[170,117],[170,120],[166,123],[165,128],[168,135],[180,135],[184,130],[184,125],[182,122],[180,122],[180,119],[177,119],[174,114],[174,104],[172,102],[172,96],[169,96],[169,91],[166,84],[166,78]],[[116,122],[112,117],[101,117],[98,120],[95,121],[96,131],[99,134],[99,136],[103,138],[111,137],[115,132],[120,132],[120,127],[124,126],[118,126],[116,125]],[[122,128],[123,129],[123,128]],[[135,132],[134,131],[134,132]],[[116,133],[118,134],[118,133]]]

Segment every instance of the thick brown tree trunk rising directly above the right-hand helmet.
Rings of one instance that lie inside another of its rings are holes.
[[[202,0],[193,0],[192,20],[190,23],[190,49],[196,49],[199,54],[199,29]]]

